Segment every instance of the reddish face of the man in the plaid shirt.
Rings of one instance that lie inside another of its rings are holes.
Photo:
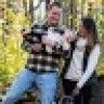
[[[48,23],[53,26],[57,25],[61,20],[61,15],[62,9],[57,6],[52,6],[52,9],[48,11]]]

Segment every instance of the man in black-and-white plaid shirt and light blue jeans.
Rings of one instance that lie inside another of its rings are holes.
[[[41,28],[49,34],[53,32],[54,37],[64,34],[58,28],[61,15],[61,4],[53,2],[48,8],[48,22],[41,26],[35,25],[34,31],[38,35]],[[52,38],[52,40],[50,35],[41,35],[41,37],[37,35],[27,34],[27,38],[24,35],[22,46],[29,53],[29,57],[25,69],[18,73],[17,78],[8,91],[6,99],[3,100],[4,104],[15,104],[32,82],[39,88],[41,104],[53,104],[54,102],[58,72],[57,64],[63,54],[63,46],[60,46],[60,42],[56,41],[58,38]],[[31,38],[28,39],[28,36]],[[31,40],[34,41],[31,42]]]

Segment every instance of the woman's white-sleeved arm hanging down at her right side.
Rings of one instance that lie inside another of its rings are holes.
[[[86,81],[88,81],[88,79],[91,77],[91,75],[95,70],[95,66],[98,64],[99,57],[100,57],[100,44],[95,44],[95,47],[92,50],[90,57],[88,60],[87,69],[86,69],[84,74],[82,75],[81,79],[77,83],[77,87],[79,89],[81,89],[83,87]]]

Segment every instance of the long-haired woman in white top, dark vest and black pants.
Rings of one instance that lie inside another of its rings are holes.
[[[78,39],[70,43],[70,55],[64,67],[63,89],[66,96],[74,95],[74,104],[90,104],[100,43],[93,18],[81,21]],[[64,99],[63,104],[69,99]]]

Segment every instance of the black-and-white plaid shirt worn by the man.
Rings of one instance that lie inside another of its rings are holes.
[[[38,25],[36,27],[38,28]],[[39,40],[39,38],[41,38],[41,37],[38,36],[39,29],[42,29],[40,31],[43,31],[43,30],[46,32],[48,31],[48,28],[44,28],[44,27],[47,27],[47,26],[46,25],[39,26],[38,29],[34,28],[34,35],[28,34],[28,35],[26,35],[26,37],[23,37],[22,47],[25,51],[29,52],[26,68],[28,68],[32,72],[41,72],[41,70],[50,72],[53,69],[56,72],[57,66],[58,66],[58,61],[61,60],[62,55],[64,54],[64,51],[61,46],[53,47],[52,50],[50,50],[50,51],[46,51],[46,46],[43,46],[43,50],[41,52],[32,51],[34,43],[41,42],[41,39]],[[37,34],[37,31],[38,31],[38,34]],[[54,29],[54,34],[55,32],[56,34],[58,32],[60,35],[64,34],[62,31],[63,30],[57,27]],[[29,38],[27,38],[27,37],[29,37]]]

